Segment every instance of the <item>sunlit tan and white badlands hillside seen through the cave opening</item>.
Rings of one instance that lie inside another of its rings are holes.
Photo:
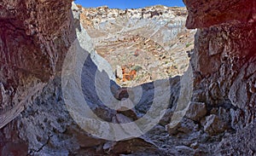
[[[195,30],[185,27],[187,9],[161,5],[125,10],[107,6],[79,9],[81,23],[96,52],[118,73],[119,84],[135,86],[182,75],[187,70],[186,52],[194,48],[195,35]],[[122,75],[122,68],[128,75]]]

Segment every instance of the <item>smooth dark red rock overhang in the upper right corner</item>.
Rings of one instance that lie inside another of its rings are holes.
[[[254,0],[183,0],[189,11],[186,26],[203,28],[222,24],[231,20],[239,20],[246,24],[248,20],[256,20]]]

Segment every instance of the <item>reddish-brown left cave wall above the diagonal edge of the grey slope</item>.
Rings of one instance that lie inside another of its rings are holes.
[[[71,2],[0,3],[0,128],[60,71],[75,38]]]

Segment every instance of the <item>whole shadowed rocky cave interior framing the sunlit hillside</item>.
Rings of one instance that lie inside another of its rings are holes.
[[[183,3],[187,67],[122,87],[83,7],[0,2],[0,155],[255,155],[256,1]]]

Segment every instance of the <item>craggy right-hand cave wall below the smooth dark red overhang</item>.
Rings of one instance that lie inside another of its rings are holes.
[[[222,38],[221,44],[218,38]],[[217,55],[207,53],[213,39],[218,44],[215,50],[223,47]],[[250,122],[249,118],[255,118],[255,93],[250,91],[253,90],[255,79],[255,41],[255,27],[240,22],[199,30],[191,60],[198,73],[195,75],[194,101],[207,103],[207,109],[240,108],[247,116],[246,122]]]

